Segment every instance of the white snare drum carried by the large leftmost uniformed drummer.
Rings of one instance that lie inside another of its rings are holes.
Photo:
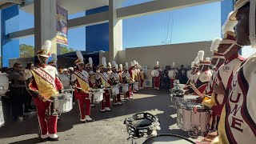
[[[54,97],[54,114],[67,113],[73,108],[73,95],[70,93],[58,94]]]

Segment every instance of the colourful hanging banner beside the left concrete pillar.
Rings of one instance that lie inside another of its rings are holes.
[[[67,10],[57,6],[57,43],[67,45]]]

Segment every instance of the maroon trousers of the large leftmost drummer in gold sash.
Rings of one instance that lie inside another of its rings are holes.
[[[51,102],[43,102],[39,98],[34,98],[34,104],[38,110],[38,122],[41,134],[56,134],[57,133],[57,116],[50,114],[49,122],[46,120],[46,110],[50,111]]]

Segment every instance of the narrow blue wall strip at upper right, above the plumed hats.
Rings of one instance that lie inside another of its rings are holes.
[[[234,0],[224,0],[221,2],[221,10],[222,10],[221,24],[222,24],[222,26],[226,22],[227,16],[233,10],[233,7],[234,7]]]

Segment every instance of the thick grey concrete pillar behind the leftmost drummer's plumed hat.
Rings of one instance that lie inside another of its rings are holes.
[[[34,0],[34,54],[46,40],[53,44],[51,53],[57,54],[56,0]]]

